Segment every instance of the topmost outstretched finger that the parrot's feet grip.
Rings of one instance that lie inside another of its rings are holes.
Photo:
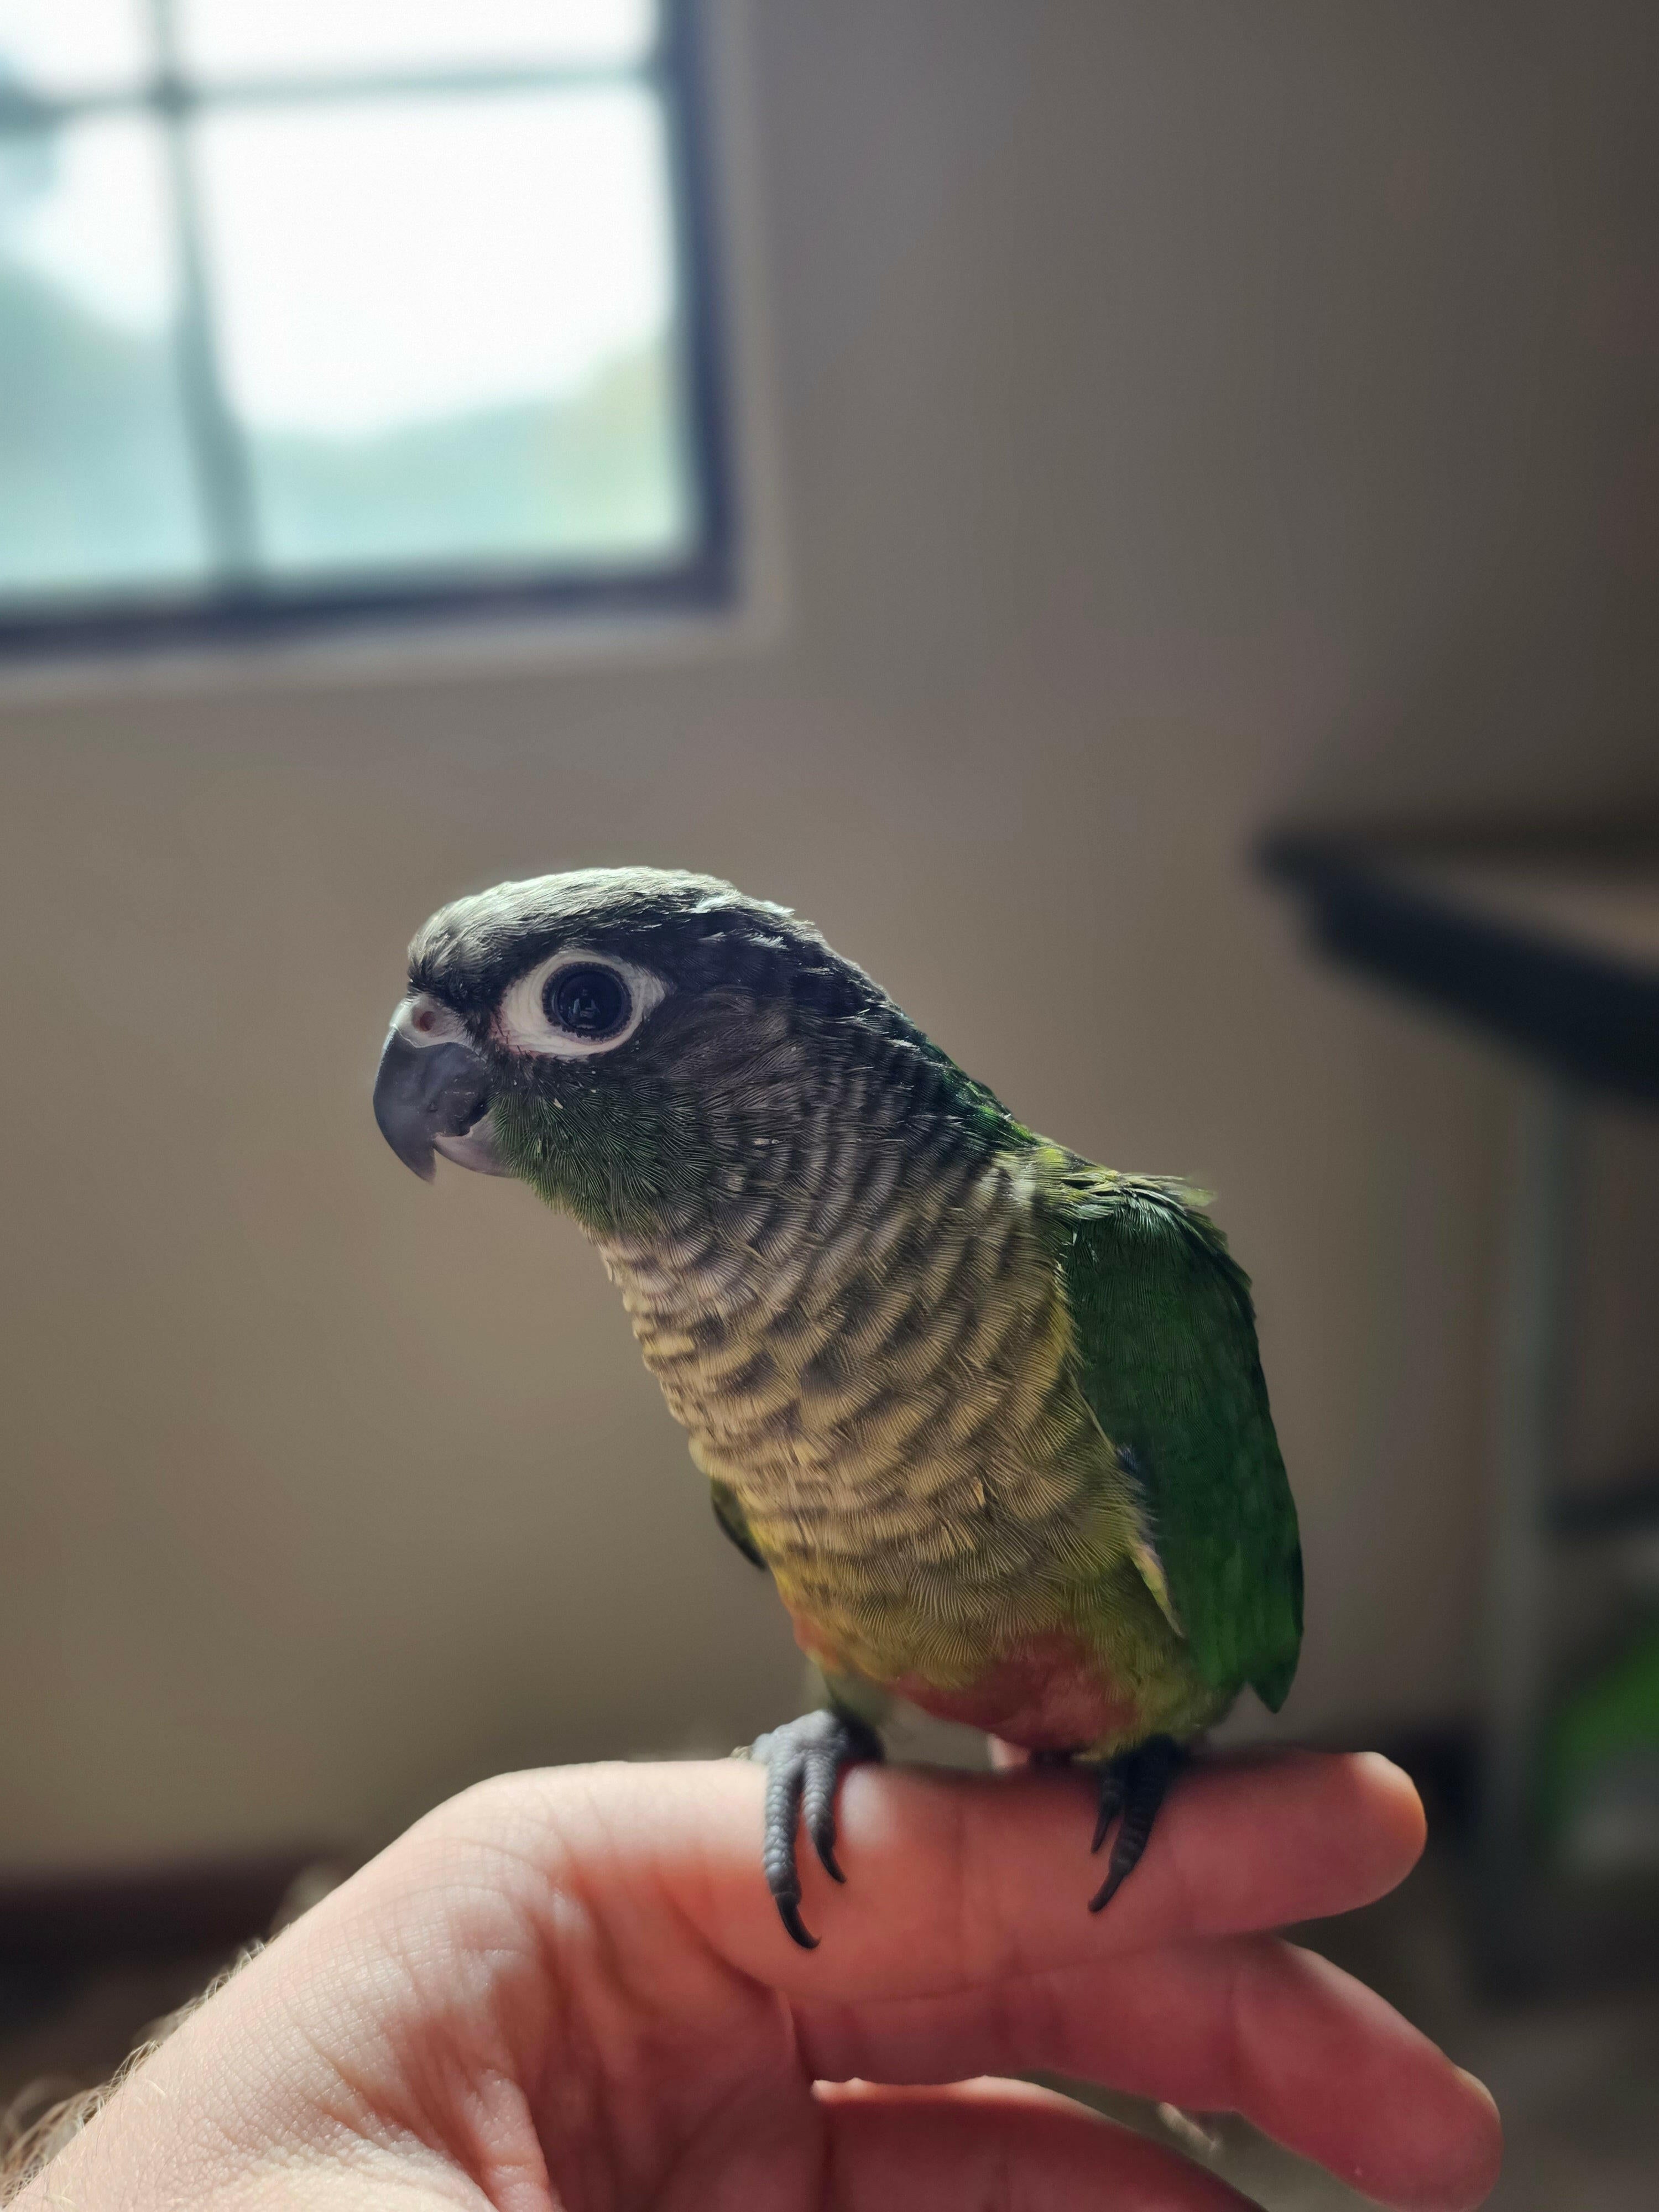
[[[1082,1776],[856,1767],[841,1787],[845,1887],[801,1854],[805,1918],[823,1936],[803,1953],[759,1876],[761,1776],[737,1763],[730,1776],[699,1792],[701,1849],[670,1880],[732,1964],[814,2000],[914,1997],[1318,1920],[1394,1889],[1425,1836],[1416,1790],[1374,1754],[1201,1763],[1095,1916]]]

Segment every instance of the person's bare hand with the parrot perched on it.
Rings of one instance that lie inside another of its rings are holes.
[[[425,1818],[161,2046],[27,2212],[1223,2212],[1172,2152],[1000,2075],[1241,2110],[1387,2205],[1498,2174],[1491,2099],[1272,1929],[1383,1896],[1383,1759],[1183,1774],[1084,1911],[1088,1783],[860,1767],[799,1951],[739,1761],[507,1776]]]

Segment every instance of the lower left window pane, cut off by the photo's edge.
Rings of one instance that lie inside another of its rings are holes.
[[[199,575],[155,126],[0,135],[0,591]]]

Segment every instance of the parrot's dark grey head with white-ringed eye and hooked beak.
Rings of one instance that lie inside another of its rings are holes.
[[[896,1060],[949,1071],[785,907],[712,876],[593,867],[502,883],[420,929],[374,1115],[416,1175],[442,1152],[633,1232],[721,1181],[752,1186],[830,1088]]]

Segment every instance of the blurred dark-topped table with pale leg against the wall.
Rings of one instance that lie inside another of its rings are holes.
[[[1533,1834],[1566,1546],[1659,1531],[1659,1464],[1562,1484],[1575,1155],[1584,1106],[1659,1110],[1659,821],[1571,830],[1279,832],[1270,876],[1329,958],[1462,1015],[1515,1071],[1478,1772],[1486,1978],[1544,1986],[1659,1964],[1659,1878],[1551,1874]]]

